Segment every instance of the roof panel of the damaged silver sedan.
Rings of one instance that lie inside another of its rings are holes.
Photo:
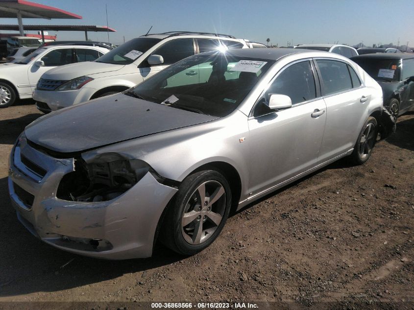
[[[202,55],[202,54],[214,55],[216,53],[220,53],[220,52],[209,51],[209,52],[205,52],[205,53],[201,53],[197,55]],[[337,54],[328,53],[325,51],[300,49],[300,48],[234,48],[234,49],[227,50],[225,53],[226,55],[235,56],[235,57],[250,57],[250,58],[268,59],[268,60],[278,60],[286,55],[292,55],[292,54],[298,54],[298,53],[312,54],[313,56],[310,56],[310,57],[314,57],[315,55],[319,57],[334,57],[333,55],[337,55]]]

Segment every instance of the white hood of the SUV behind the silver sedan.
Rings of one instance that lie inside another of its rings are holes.
[[[42,75],[42,78],[48,80],[68,81],[72,80],[73,78],[84,75],[117,71],[123,67],[124,65],[104,64],[94,61],[85,61],[53,68],[45,72]]]

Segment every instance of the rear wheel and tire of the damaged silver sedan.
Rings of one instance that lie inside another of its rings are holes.
[[[378,123],[373,117],[366,119],[364,126],[355,143],[354,151],[350,155],[351,161],[355,165],[364,164],[372,154],[378,135]]]

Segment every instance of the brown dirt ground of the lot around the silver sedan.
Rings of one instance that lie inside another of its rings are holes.
[[[118,262],[54,249],[18,222],[8,197],[8,155],[41,115],[31,100],[0,109],[0,302],[413,309],[414,113],[398,119],[397,132],[377,143],[365,165],[341,160],[253,203],[203,252],[181,257],[159,245],[150,259]]]

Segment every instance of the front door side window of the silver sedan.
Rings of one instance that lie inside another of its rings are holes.
[[[266,91],[268,94],[288,95],[292,104],[316,98],[315,79],[309,61],[286,68]]]

